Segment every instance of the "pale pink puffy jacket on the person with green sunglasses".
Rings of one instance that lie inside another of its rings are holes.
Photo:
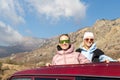
[[[90,63],[90,61],[84,55],[80,54],[79,52],[75,52],[73,45],[71,45],[66,51],[62,49],[57,50],[57,53],[52,60],[52,65],[84,63]]]

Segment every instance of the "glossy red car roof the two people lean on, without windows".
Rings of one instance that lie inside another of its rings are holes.
[[[23,70],[13,76],[22,75],[56,75],[56,76],[96,76],[120,77],[120,63],[87,63],[44,66],[36,69]]]

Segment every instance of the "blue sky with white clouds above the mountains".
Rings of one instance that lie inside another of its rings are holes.
[[[120,18],[120,0],[0,0],[0,45],[51,38]]]

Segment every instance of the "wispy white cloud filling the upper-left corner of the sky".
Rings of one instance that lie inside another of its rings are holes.
[[[0,20],[9,24],[24,23],[24,10],[18,0],[0,0]]]

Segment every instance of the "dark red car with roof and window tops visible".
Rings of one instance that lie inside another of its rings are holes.
[[[120,63],[55,65],[13,74],[8,80],[120,80]]]

